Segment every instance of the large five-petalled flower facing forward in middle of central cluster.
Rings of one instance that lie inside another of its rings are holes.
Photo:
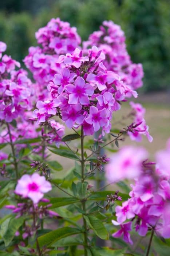
[[[76,78],[74,85],[67,85],[66,90],[70,93],[68,100],[69,104],[81,103],[82,105],[88,105],[90,103],[88,96],[91,96],[94,93],[91,84],[85,83],[81,76]]]

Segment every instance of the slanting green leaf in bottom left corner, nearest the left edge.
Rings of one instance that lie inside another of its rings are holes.
[[[18,219],[12,218],[8,223],[8,229],[3,235],[3,240],[5,242],[5,246],[8,246],[15,236],[16,231],[19,229],[21,225],[23,225],[24,217],[20,217]]]

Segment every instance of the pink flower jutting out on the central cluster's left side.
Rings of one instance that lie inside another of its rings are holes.
[[[39,109],[40,114],[47,113],[49,115],[56,114],[56,108],[61,105],[59,99],[52,99],[47,101],[37,101],[36,107]]]

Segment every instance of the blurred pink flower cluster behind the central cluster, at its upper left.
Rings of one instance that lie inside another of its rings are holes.
[[[32,72],[33,78],[41,88],[39,97],[45,97],[47,84],[62,67],[58,63],[60,54],[72,53],[79,46],[81,39],[75,27],[59,18],[51,19],[47,26],[36,32],[37,43],[41,47],[30,47],[24,63]],[[42,86],[43,85],[43,86]],[[40,99],[40,98],[39,98]]]

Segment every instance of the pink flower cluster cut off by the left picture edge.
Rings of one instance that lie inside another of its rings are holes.
[[[0,54],[6,45],[0,42]],[[11,122],[18,116],[22,117],[25,109],[31,109],[31,80],[27,72],[20,67],[20,63],[6,54],[0,61],[0,120]]]

